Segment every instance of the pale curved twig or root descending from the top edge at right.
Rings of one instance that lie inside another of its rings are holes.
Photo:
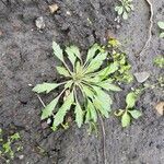
[[[139,58],[140,58],[140,56],[142,56],[142,52],[144,51],[144,50],[147,50],[147,48],[150,46],[150,42],[151,42],[151,39],[152,39],[152,27],[153,27],[153,15],[154,15],[154,13],[153,13],[153,5],[152,5],[152,3],[151,3],[151,1],[150,0],[145,0],[147,1],[147,3],[149,4],[149,7],[150,7],[150,26],[149,26],[149,37],[148,37],[148,40],[145,42],[145,44],[144,44],[144,46],[143,46],[143,48],[141,49],[141,51],[140,51],[140,54],[139,54]]]

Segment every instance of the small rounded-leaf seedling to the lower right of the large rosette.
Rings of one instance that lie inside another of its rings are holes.
[[[118,109],[118,112],[115,112],[115,115],[118,117],[121,117],[121,126],[128,127],[131,122],[131,118],[138,119],[142,116],[142,113],[138,109],[136,109],[134,105],[137,102],[138,93],[130,92],[126,96],[126,109]]]

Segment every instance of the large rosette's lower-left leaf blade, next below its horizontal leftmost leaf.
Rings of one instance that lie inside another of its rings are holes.
[[[42,113],[42,120],[48,118],[49,116],[52,115],[52,112],[59,101],[59,97],[56,97],[54,101],[51,101],[44,109]]]

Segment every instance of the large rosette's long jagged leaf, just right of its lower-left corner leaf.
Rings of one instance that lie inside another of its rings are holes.
[[[52,127],[58,127],[60,124],[63,122],[63,118],[67,112],[70,109],[73,102],[74,102],[73,92],[71,92],[66,98],[66,101],[63,102],[62,106],[59,108],[59,110],[55,115]]]

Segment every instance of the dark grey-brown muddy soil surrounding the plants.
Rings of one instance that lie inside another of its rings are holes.
[[[154,10],[151,46],[137,55],[148,38],[150,10],[145,0],[134,0],[134,12],[121,24],[114,20],[115,0],[3,0],[0,1],[0,126],[7,134],[19,131],[23,151],[12,164],[103,164],[102,134],[86,133],[86,127],[52,132],[43,129],[39,119],[42,104],[28,84],[58,80],[51,42],[69,43],[86,50],[97,42],[106,43],[107,35],[116,36],[124,45],[132,71],[149,71],[149,82],[163,73],[153,66],[153,58],[164,54],[164,40],[159,38],[156,22],[164,19],[164,0],[151,0]],[[50,14],[48,4],[59,10]],[[45,28],[38,31],[35,20],[43,16]],[[90,21],[92,22],[90,22]],[[114,108],[125,106],[130,86],[114,97]],[[42,96],[48,102],[50,97]],[[107,164],[164,164],[164,118],[154,105],[164,101],[162,89],[147,90],[137,107],[142,118],[122,129],[117,118],[105,119]],[[40,149],[42,148],[42,149]],[[23,157],[20,157],[23,155]],[[0,161],[3,164],[3,161]]]

